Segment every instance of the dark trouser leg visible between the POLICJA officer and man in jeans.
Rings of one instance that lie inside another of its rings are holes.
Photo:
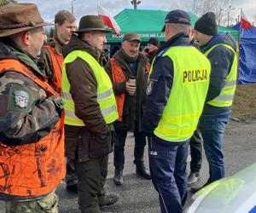
[[[196,129],[192,135],[189,147],[190,147],[190,170],[191,172],[198,172],[201,170],[201,159],[202,159],[202,143],[203,139],[201,136],[201,131]]]

